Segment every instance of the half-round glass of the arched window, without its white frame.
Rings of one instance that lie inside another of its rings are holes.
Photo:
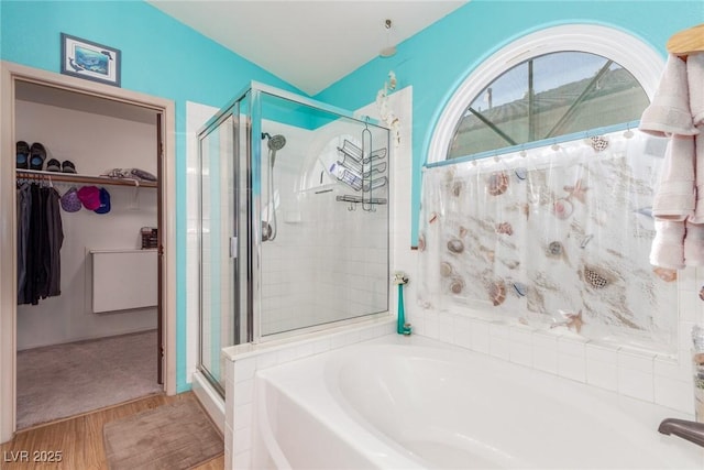
[[[585,52],[531,57],[471,101],[448,159],[638,120],[648,103],[638,80],[612,59]]]

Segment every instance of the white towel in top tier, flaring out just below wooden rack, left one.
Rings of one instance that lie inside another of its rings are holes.
[[[686,63],[670,54],[652,102],[640,117],[638,129],[652,135],[695,135],[692,124]]]

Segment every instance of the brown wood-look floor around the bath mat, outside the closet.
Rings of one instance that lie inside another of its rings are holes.
[[[103,424],[183,400],[190,394],[191,392],[175,396],[151,395],[61,422],[23,429],[10,442],[0,445],[0,469],[107,470],[108,462],[102,445]],[[59,462],[46,461],[52,457],[57,460],[57,456],[61,456]],[[224,456],[196,467],[198,470],[223,468]]]

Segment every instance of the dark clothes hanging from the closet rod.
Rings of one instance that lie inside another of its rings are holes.
[[[24,190],[24,189],[23,189]],[[53,187],[29,185],[29,201],[18,211],[18,284],[19,304],[37,305],[41,298],[61,294],[61,249],[64,231],[59,195]],[[24,250],[20,253],[20,247]]]

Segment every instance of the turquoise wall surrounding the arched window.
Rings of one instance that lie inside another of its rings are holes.
[[[418,237],[420,170],[433,127],[463,79],[510,42],[538,30],[569,23],[612,26],[666,54],[675,32],[704,22],[704,1],[497,1],[473,0],[375,58],[316,96],[346,109],[372,102],[394,70],[398,89],[413,85],[413,234]]]

